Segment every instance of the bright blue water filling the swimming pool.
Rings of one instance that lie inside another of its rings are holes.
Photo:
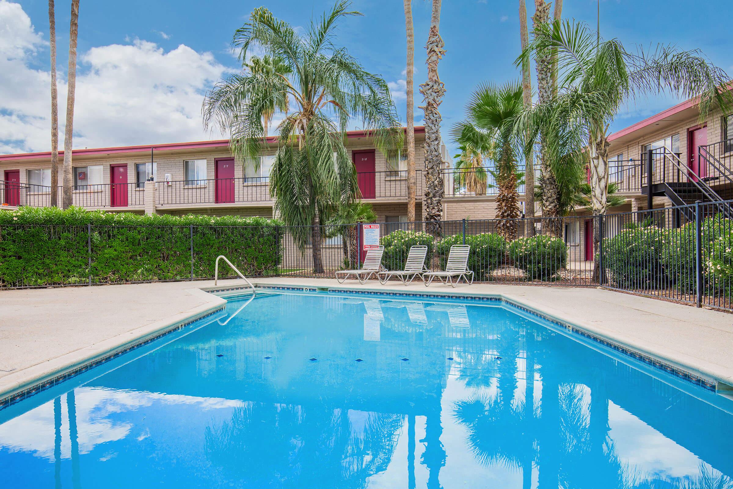
[[[230,300],[0,411],[2,485],[732,487],[733,402],[511,306],[390,299]]]

